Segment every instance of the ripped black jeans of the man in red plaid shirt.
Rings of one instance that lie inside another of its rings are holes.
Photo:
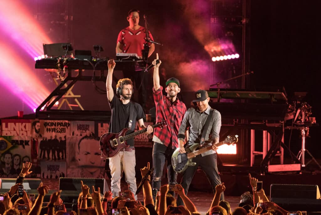
[[[177,173],[174,171],[172,167],[172,154],[175,149],[172,149],[172,145],[169,146],[154,142],[153,145],[153,179],[152,179],[152,188],[159,189],[161,186],[161,177],[165,165],[165,161],[167,161],[167,175],[168,175],[168,183],[176,184]]]

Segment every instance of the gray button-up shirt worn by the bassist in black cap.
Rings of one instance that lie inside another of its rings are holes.
[[[211,107],[210,105],[207,109],[201,113],[197,107],[191,107],[187,110],[184,115],[184,119],[179,128],[178,134],[185,134],[185,130],[188,128],[188,145],[193,145],[194,143],[200,143],[203,128],[206,122],[208,115],[210,114]],[[214,110],[212,119],[206,131],[205,140],[219,140],[219,134],[221,129],[221,113],[217,110]],[[216,153],[214,150],[210,150],[202,154],[202,156]]]

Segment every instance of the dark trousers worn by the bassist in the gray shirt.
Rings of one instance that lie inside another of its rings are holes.
[[[192,161],[196,162],[196,165],[194,167],[187,167],[181,180],[181,185],[185,190],[185,194],[187,195],[189,185],[191,184],[194,174],[199,166],[204,171],[212,186],[213,193],[215,194],[215,186],[221,184],[221,178],[217,169],[217,154],[209,154],[204,157],[202,157],[202,155],[197,155]],[[224,193],[221,194],[221,200],[224,200]],[[183,200],[179,195],[176,203],[177,205],[184,205]]]

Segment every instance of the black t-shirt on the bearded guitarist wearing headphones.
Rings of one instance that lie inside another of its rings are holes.
[[[124,128],[128,128],[130,109],[134,108],[134,114],[132,120],[132,128],[126,132],[127,134],[133,133],[136,126],[136,121],[145,117],[144,111],[140,104],[130,101],[127,104],[123,104],[116,95],[114,95],[111,102],[109,102],[111,109],[111,117],[109,123],[108,132],[119,133]],[[134,139],[127,140],[127,144],[134,146]]]

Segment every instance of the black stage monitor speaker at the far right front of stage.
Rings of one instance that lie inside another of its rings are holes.
[[[287,211],[321,211],[317,185],[271,184],[270,201]]]

